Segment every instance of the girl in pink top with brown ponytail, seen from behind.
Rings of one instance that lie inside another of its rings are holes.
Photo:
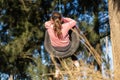
[[[76,21],[71,18],[63,18],[59,12],[53,12],[51,19],[45,22],[45,28],[49,34],[52,47],[57,51],[66,51],[70,48],[69,30],[76,26]],[[71,56],[76,67],[79,67],[77,57]],[[60,63],[59,60],[56,60]],[[55,77],[58,77],[59,70],[56,69]]]

